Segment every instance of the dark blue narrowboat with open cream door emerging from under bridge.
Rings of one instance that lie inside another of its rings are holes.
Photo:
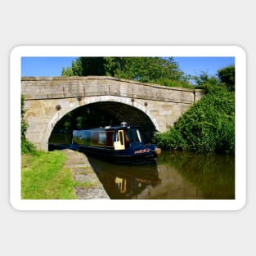
[[[97,155],[114,163],[156,162],[161,150],[146,144],[142,129],[123,122],[119,126],[74,130],[71,149]]]

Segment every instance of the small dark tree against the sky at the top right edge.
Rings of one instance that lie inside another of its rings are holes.
[[[235,80],[236,80],[236,71],[235,65],[227,66],[222,70],[218,70],[218,78],[221,83],[223,83],[230,92],[235,92]]]

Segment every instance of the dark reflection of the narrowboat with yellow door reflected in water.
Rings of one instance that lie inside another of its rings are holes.
[[[88,160],[111,199],[131,199],[161,182],[156,164],[118,165],[89,156]]]

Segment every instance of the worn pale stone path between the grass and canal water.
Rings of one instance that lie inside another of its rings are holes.
[[[74,150],[62,150],[67,155],[65,168],[70,168],[74,180],[81,183],[76,187],[76,195],[79,199],[110,199],[104,187],[99,181],[88,158],[83,153]],[[88,186],[84,186],[88,185]]]

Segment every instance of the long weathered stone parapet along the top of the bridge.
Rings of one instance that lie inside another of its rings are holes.
[[[193,103],[202,94],[201,90],[196,89],[170,88],[106,76],[23,77],[21,92],[25,100],[108,95],[187,104]]]

